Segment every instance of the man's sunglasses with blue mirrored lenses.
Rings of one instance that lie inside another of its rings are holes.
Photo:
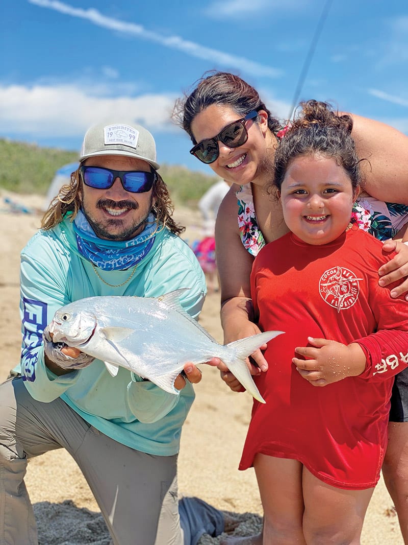
[[[79,167],[79,174],[85,185],[94,189],[109,189],[116,178],[120,178],[122,186],[131,193],[145,193],[150,191],[156,181],[156,172],[143,171],[114,171],[111,168]]]

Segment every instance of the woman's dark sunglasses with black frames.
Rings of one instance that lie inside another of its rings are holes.
[[[252,110],[246,114],[245,117],[233,121],[214,138],[206,138],[202,140],[194,148],[190,149],[190,153],[195,155],[197,159],[200,159],[203,163],[209,165],[213,163],[215,159],[218,158],[220,150],[218,148],[218,141],[220,140],[228,148],[238,148],[245,144],[248,140],[248,131],[246,130],[245,123],[249,119],[254,119],[257,117],[258,112]]]

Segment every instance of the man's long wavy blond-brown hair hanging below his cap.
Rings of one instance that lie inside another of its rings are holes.
[[[156,204],[152,208],[152,213],[159,224],[167,227],[172,233],[180,235],[186,231],[186,227],[178,225],[173,219],[174,205],[171,202],[168,187],[160,174],[157,171],[154,172],[156,172],[156,181],[153,185],[153,197],[156,197]],[[78,168],[75,172],[72,172],[70,183],[61,187],[57,197],[53,199],[50,207],[42,217],[42,229],[52,229],[63,221],[65,215],[69,212],[72,213],[71,221],[75,218],[79,208],[81,208],[82,184],[83,181]]]

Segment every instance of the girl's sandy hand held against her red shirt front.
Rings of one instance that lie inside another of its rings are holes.
[[[357,343],[348,346],[336,341],[307,337],[312,345],[298,347],[293,358],[299,373],[313,386],[326,386],[346,377],[357,377],[366,368],[366,356]]]

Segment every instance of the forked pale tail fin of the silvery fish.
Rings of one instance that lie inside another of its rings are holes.
[[[246,365],[246,358],[253,354],[255,350],[262,346],[262,344],[267,343],[282,333],[284,333],[284,331],[265,331],[263,333],[258,333],[257,335],[252,335],[251,337],[245,337],[225,345],[231,356],[228,358],[228,361],[223,360],[225,365],[228,367],[234,377],[240,381],[245,390],[248,390],[252,397],[261,403],[265,403],[265,400],[261,396],[261,393],[259,393],[248,366]]]

